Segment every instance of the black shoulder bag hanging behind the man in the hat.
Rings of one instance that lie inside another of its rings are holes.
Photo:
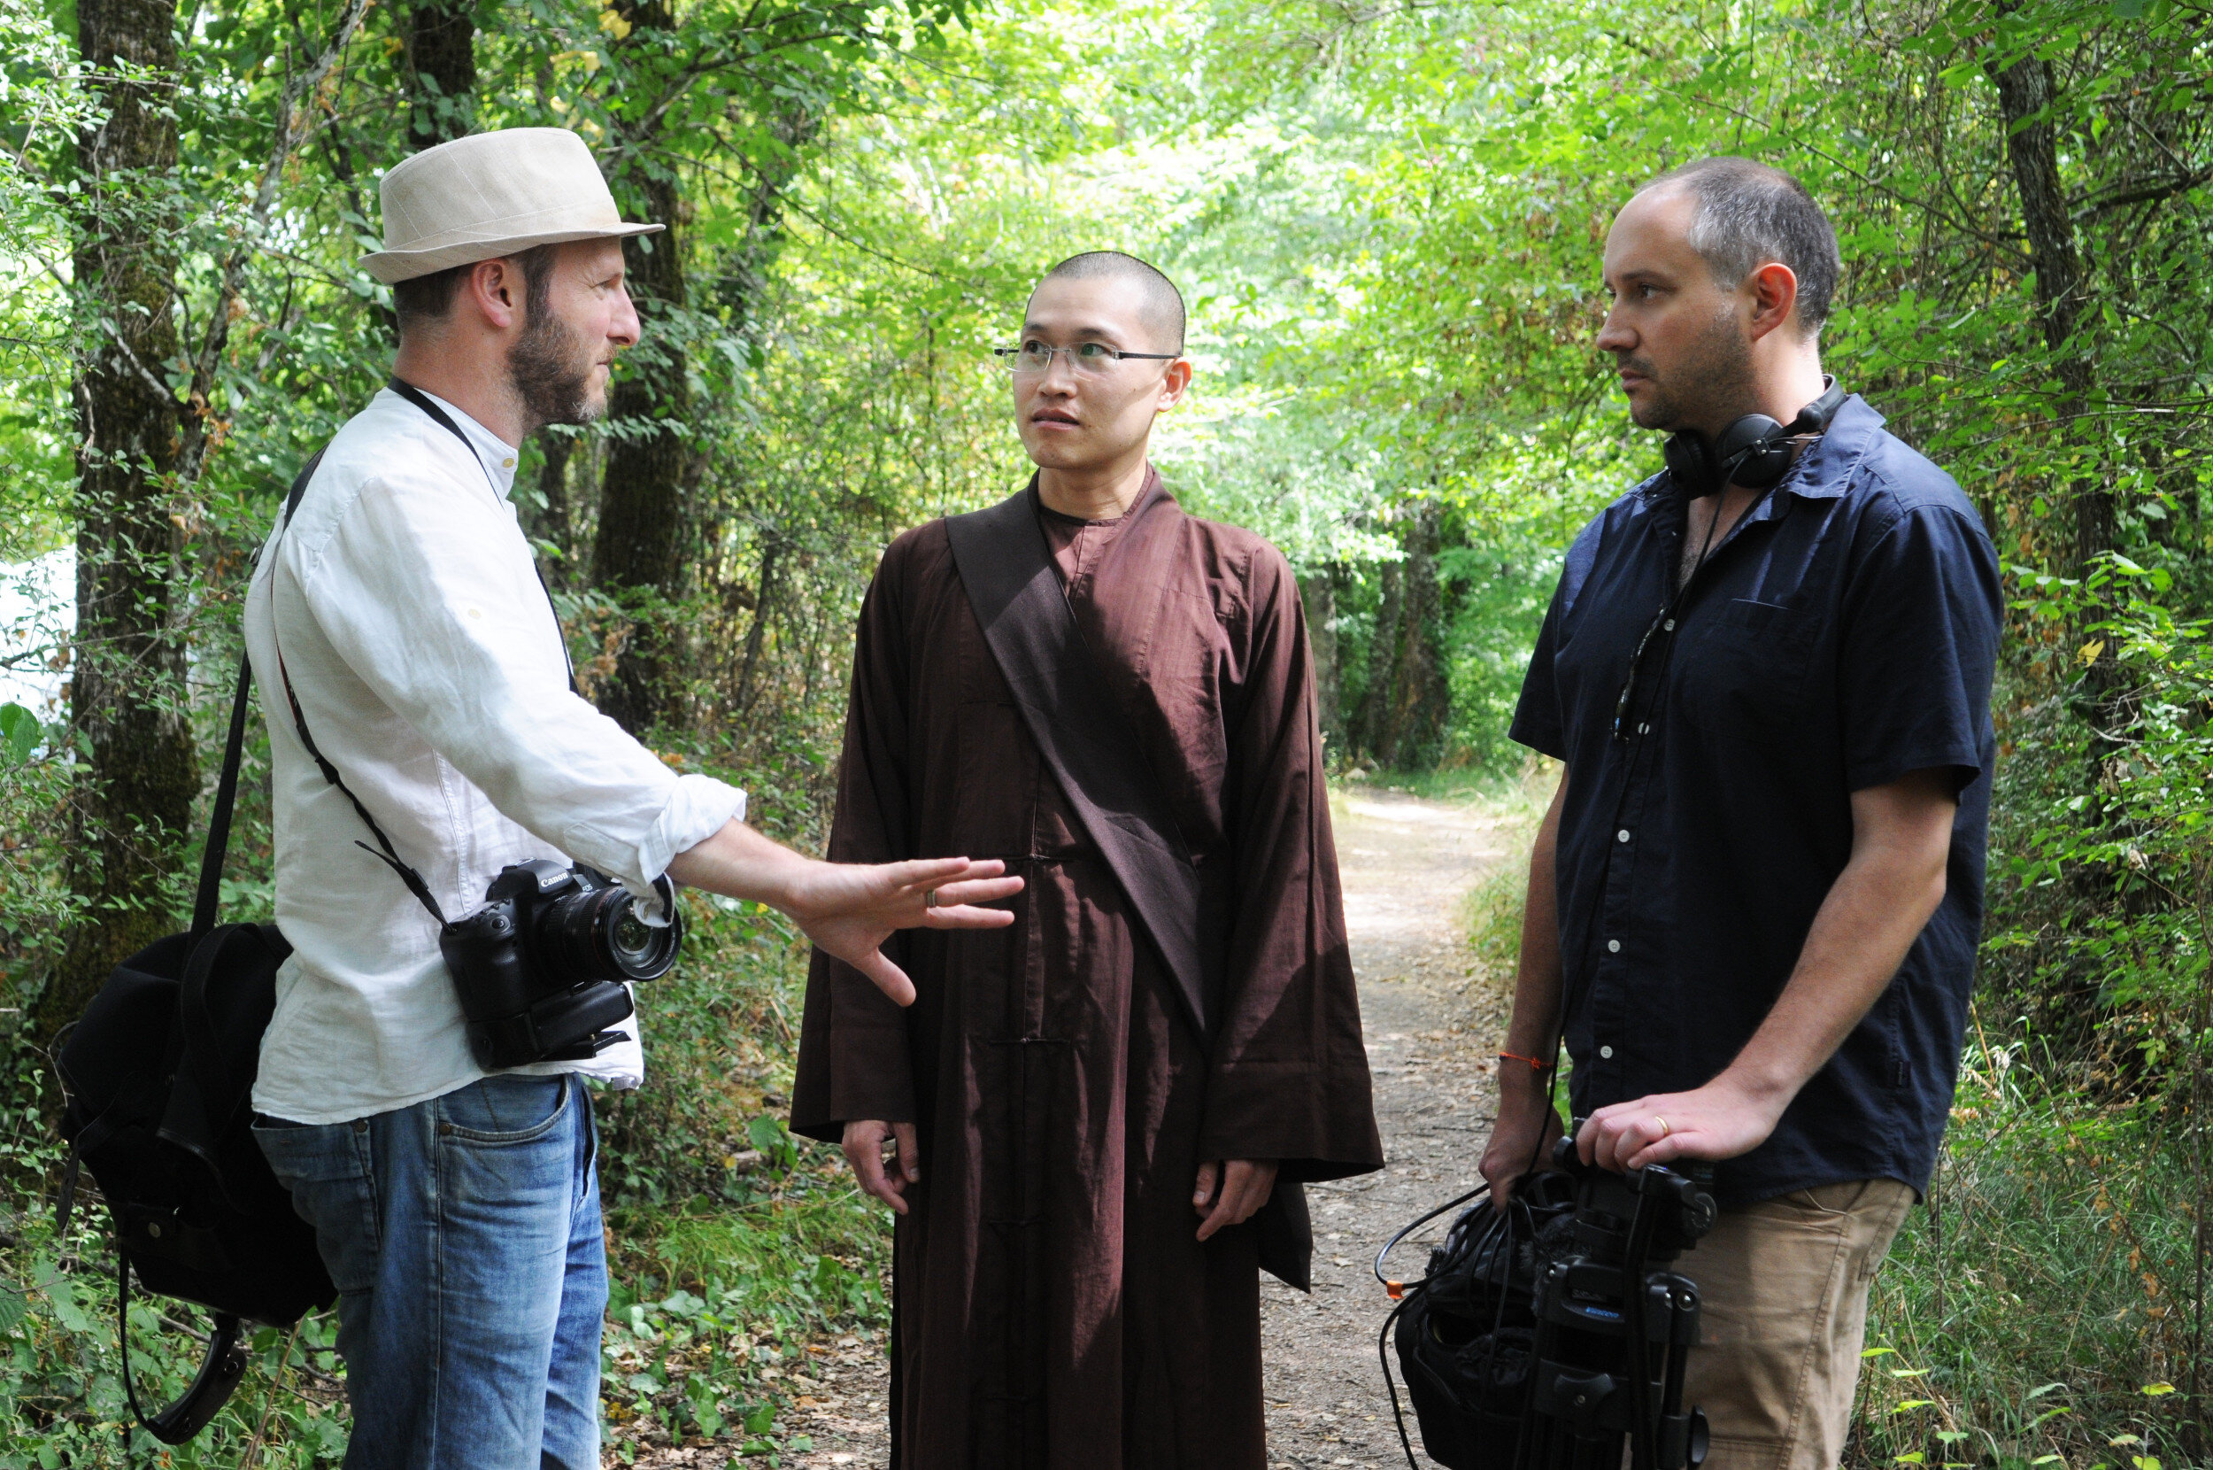
[[[292,483],[288,522],[321,460],[308,460]],[[89,1167],[115,1222],[124,1393],[133,1417],[162,1443],[197,1435],[239,1386],[241,1319],[290,1326],[339,1295],[314,1229],[292,1211],[292,1195],[252,1136],[261,1034],[277,1010],[277,967],[292,945],[274,923],[215,923],[250,693],[252,669],[241,655],[193,928],[120,963],[53,1058],[69,1138],[55,1229],[69,1229],[77,1169]],[[133,1271],[146,1291],[215,1315],[199,1377],[150,1419],[131,1381]]]

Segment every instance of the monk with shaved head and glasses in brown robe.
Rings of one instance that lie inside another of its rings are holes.
[[[1027,888],[892,941],[907,1010],[814,954],[792,1129],[896,1211],[896,1470],[1264,1470],[1259,1269],[1303,1288],[1301,1184],[1383,1162],[1299,589],[1146,458],[1164,275],[1062,261],[1000,359],[1038,472],[885,551],[830,855]]]

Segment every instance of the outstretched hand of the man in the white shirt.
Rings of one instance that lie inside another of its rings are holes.
[[[1007,863],[927,857],[910,863],[808,863],[792,877],[786,912],[823,954],[832,954],[898,1005],[914,1003],[914,981],[883,954],[896,930],[996,930],[1014,923],[1002,908],[976,908],[1022,892],[1000,877]],[[927,903],[936,890],[936,905]],[[783,908],[783,905],[779,905]]]

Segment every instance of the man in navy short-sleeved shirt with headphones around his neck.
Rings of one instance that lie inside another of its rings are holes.
[[[1611,352],[1666,472],[1567,553],[1514,739],[1565,770],[1529,863],[1483,1176],[1558,1133],[1708,1160],[1686,1404],[1711,1468],[1835,1466],[1868,1284],[1950,1116],[1996,742],[1996,551],[1959,485],[1821,374],[1837,237],[1715,157],[1607,235]]]

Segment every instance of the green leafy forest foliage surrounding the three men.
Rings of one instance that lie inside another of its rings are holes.
[[[407,91],[407,9],[370,7],[332,49],[343,13],[343,0],[181,13],[166,93],[179,157],[104,206],[177,261],[166,310],[181,348],[150,372],[193,447],[162,576],[204,770],[252,547],[294,467],[381,381],[392,341],[389,292],[359,255],[423,100]],[[75,142],[104,77],[75,62],[71,27],[69,7],[0,0],[0,677],[40,682],[113,658],[27,569],[97,509],[75,491],[71,376],[113,328],[75,279],[102,224],[84,215]],[[2100,1253],[2113,1231],[2093,1229],[2087,1255],[2074,1235],[2127,1213],[2173,1302],[2173,1220],[2206,1209],[2202,1187],[2191,1202],[2171,1182],[2204,1171],[2213,1047],[2204,7],[1671,0],[1624,24],[1593,0],[527,0],[478,7],[476,27],[476,95],[432,111],[573,126],[626,208],[677,201],[693,283],[682,310],[648,310],[653,341],[631,354],[635,368],[682,348],[688,374],[688,591],[617,600],[591,584],[598,476],[637,423],[524,447],[516,503],[580,680],[595,689],[631,640],[677,629],[684,689],[648,742],[679,770],[744,784],[755,819],[803,846],[828,817],[850,624],[881,547],[1027,476],[987,350],[1042,268],[1126,248],[1184,283],[1199,376],[1157,460],[1193,509],[1259,529],[1330,591],[1321,631],[1346,711],[1392,677],[1374,658],[1394,638],[1388,587],[1407,558],[1430,560],[1447,770],[1379,779],[1487,790],[1523,762],[1505,726],[1560,553],[1658,467],[1591,345],[1611,213],[1706,153],[1797,173],[1848,261],[1826,363],[1959,478],[2016,589],[1983,1014],[2005,1016],[2007,1036],[2020,1018],[2036,1047],[2005,1043],[1998,1067],[1978,1043],[1985,1091],[1963,1109],[1981,1111],[1963,1114],[1947,1162],[1961,1215],[1943,1251],[1923,1233],[1901,1246],[1899,1291],[1879,1304],[1890,1337],[1874,1339],[1943,1393],[1899,1415],[1885,1399],[1863,1415],[1863,1446],[1923,1457],[1908,1463],[2029,1448],[2116,1470],[2182,1459],[2171,1430],[2189,1393],[2136,1393],[2184,1381],[2171,1344],[2091,1326],[2120,1311],[2136,1266]],[[1994,77],[2020,64],[2047,66],[2051,95],[2009,122]],[[2065,332],[2023,224],[2014,139],[2029,126],[2051,128],[2080,257]],[[2085,540],[2100,514],[2109,529]],[[1436,529],[1434,551],[1412,527]],[[89,775],[80,713],[66,691],[49,708],[20,689],[0,697],[0,1027],[86,921],[62,883]],[[1341,766],[1363,757],[1339,750]],[[239,914],[272,897],[266,759],[257,737],[224,890]],[[1472,899],[1494,976],[1511,967],[1520,883],[1503,868]],[[775,1452],[790,1441],[775,1430],[781,1379],[763,1370],[810,1333],[876,1331],[883,1231],[837,1160],[775,1120],[792,932],[750,905],[690,903],[690,959],[642,998],[646,1087],[602,1105],[624,1282],[609,1412],[633,1448],[719,1435]],[[0,1463],[91,1463],[115,1443],[113,1366],[89,1317],[102,1246],[40,1233],[53,1167],[40,1087],[22,1052],[4,1089],[15,1244],[0,1244],[0,1350],[15,1366],[0,1393],[29,1428],[7,1430]],[[2065,1140],[2093,1136],[2120,1213],[2045,1184],[2080,1176]],[[1959,1286],[2009,1251],[2060,1266],[2049,1282],[2007,1266],[2007,1286]],[[2096,1308],[2058,1295],[2067,1273]],[[2182,1319],[2180,1302],[2164,1319],[2149,1308],[2129,1331]],[[241,1415],[263,1404],[277,1406],[266,1459],[328,1443],[332,1415],[310,1412],[328,1406],[310,1375],[332,1370],[328,1324],[294,1344],[285,1388],[268,1377],[279,1350],[257,1346],[263,1377],[190,1455],[235,1459],[254,1432]],[[148,1388],[188,1357],[150,1337],[144,1353]],[[2038,1393],[2049,1381],[2069,1388]]]

